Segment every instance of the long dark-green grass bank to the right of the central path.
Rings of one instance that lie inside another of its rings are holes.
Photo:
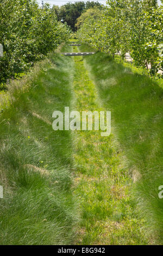
[[[82,45],[80,51],[90,51]],[[163,237],[163,89],[161,80],[117,63],[105,53],[85,58],[103,106],[111,111],[112,132],[126,157],[135,181],[135,197],[151,234],[151,243]]]

